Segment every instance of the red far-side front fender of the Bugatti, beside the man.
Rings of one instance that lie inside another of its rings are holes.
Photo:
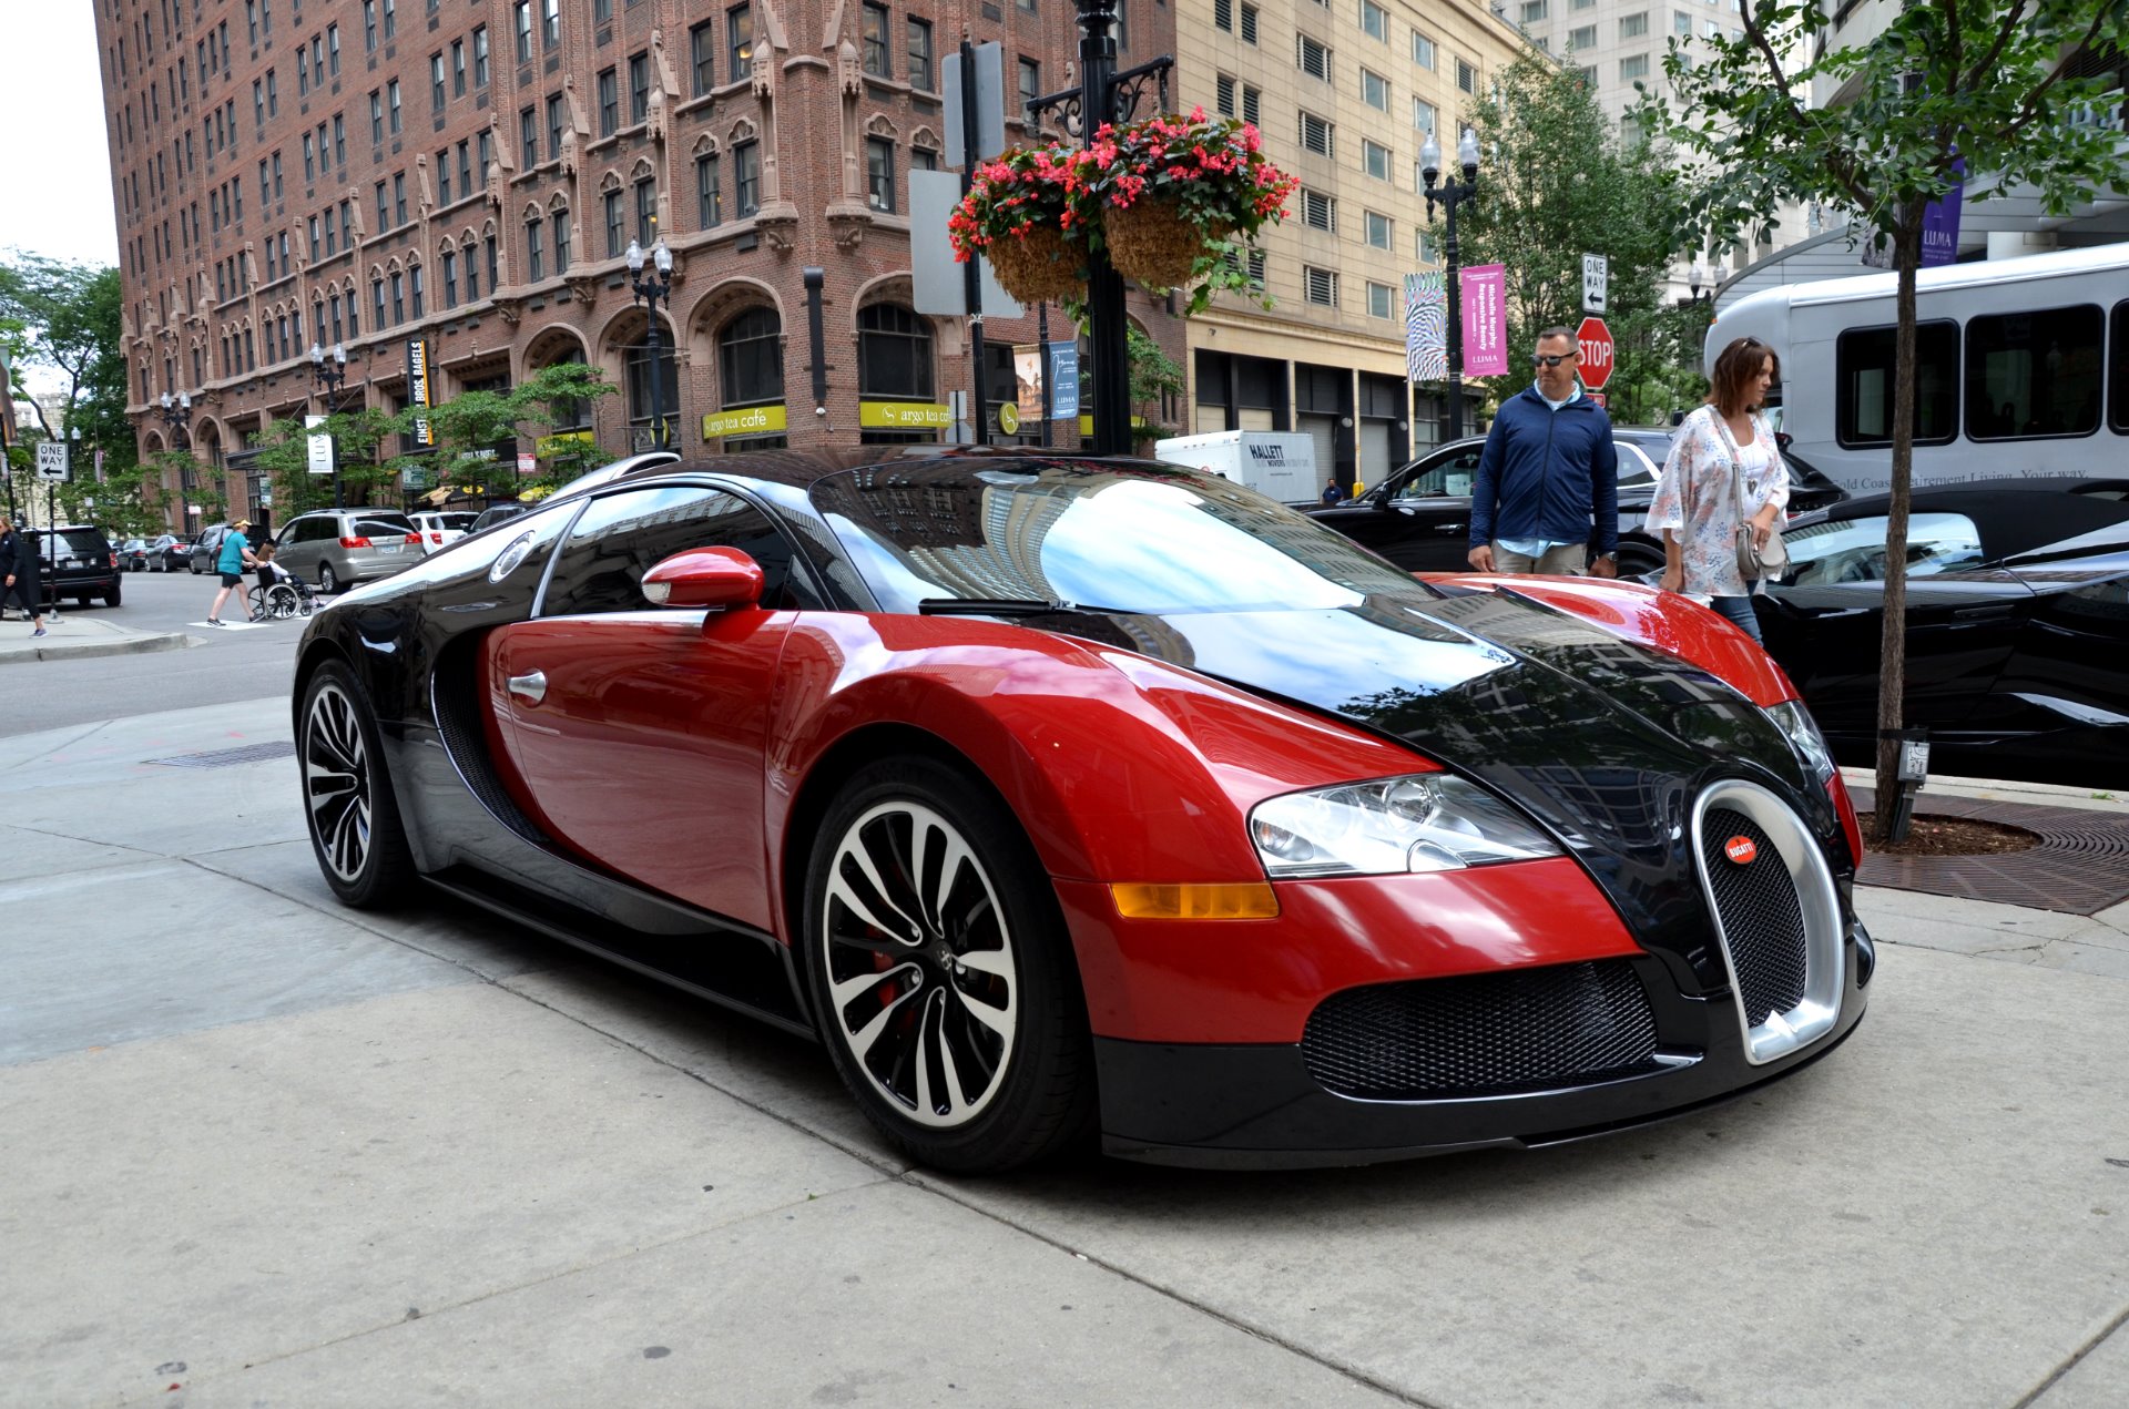
[[[1729,683],[1761,709],[1801,698],[1782,666],[1722,613],[1688,596],[1658,592],[1646,583],[1610,577],[1482,577],[1478,573],[1416,573],[1420,581],[1512,590],[1531,600],[1571,611],[1616,636],[1637,641],[1665,656],[1690,660]]]

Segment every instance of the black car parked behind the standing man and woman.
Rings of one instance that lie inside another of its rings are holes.
[[[1618,570],[1646,577],[1663,570],[1663,543],[1644,521],[1656,498],[1656,475],[1669,455],[1671,432],[1620,426],[1618,449]],[[1484,436],[1452,441],[1420,455],[1380,485],[1343,504],[1311,509],[1309,517],[1354,543],[1375,549],[1412,573],[1463,573],[1471,551],[1471,485]],[[1844,498],[1842,490],[1810,466],[1788,460],[1790,513]]]

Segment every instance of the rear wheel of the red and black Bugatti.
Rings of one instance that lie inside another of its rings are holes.
[[[328,660],[302,692],[296,739],[304,822],[326,885],[343,905],[400,905],[413,851],[379,747],[377,717],[353,670]]]

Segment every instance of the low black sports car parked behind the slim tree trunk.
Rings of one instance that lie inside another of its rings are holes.
[[[1878,734],[1888,496],[1797,517],[1759,598],[1835,758]],[[1905,722],[1935,773],[2129,788],[2129,479],[1914,492]]]

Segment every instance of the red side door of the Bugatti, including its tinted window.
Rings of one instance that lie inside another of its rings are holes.
[[[762,607],[705,613],[643,600],[643,573],[694,547],[737,547]],[[764,749],[792,581],[781,532],[707,485],[620,490],[585,504],[532,619],[485,641],[490,707],[526,796],[581,858],[766,930]]]

